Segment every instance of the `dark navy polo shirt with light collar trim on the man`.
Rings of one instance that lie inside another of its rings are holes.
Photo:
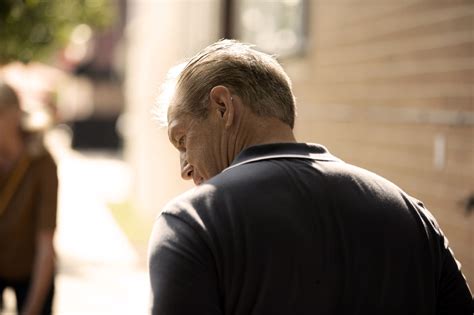
[[[150,240],[153,314],[471,314],[433,216],[304,143],[254,146],[171,201]]]

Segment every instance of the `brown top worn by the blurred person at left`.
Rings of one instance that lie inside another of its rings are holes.
[[[23,174],[13,174],[14,170],[0,174],[0,197],[11,186],[12,177],[20,173],[21,178],[8,203],[0,204],[4,207],[0,209],[0,277],[12,280],[31,275],[36,234],[56,228],[56,164],[47,151],[25,155],[29,163]]]

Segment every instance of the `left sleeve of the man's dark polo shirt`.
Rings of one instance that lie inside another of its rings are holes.
[[[149,247],[152,314],[222,314],[215,263],[202,236],[180,217],[162,213]]]

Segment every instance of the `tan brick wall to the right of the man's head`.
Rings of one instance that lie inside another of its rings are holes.
[[[474,287],[474,2],[310,1],[296,132],[423,200]]]

